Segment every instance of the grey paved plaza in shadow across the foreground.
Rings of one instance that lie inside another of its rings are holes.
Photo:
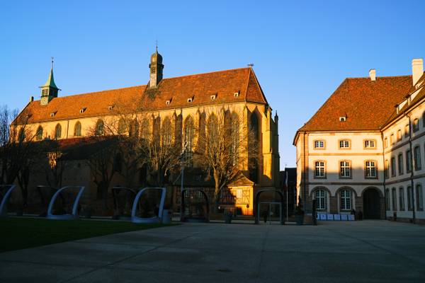
[[[425,226],[182,224],[0,253],[0,282],[425,282]]]

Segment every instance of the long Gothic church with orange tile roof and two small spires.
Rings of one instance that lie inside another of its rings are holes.
[[[251,214],[254,186],[276,187],[279,173],[278,116],[273,117],[254,70],[246,67],[163,78],[162,61],[158,52],[152,54],[145,85],[69,96],[58,95],[60,89],[52,69],[47,82],[40,86],[40,100],[31,97],[20,116],[28,117],[29,131],[36,140],[57,139],[62,144],[67,144],[63,142],[66,140],[84,140],[99,121],[118,120],[124,114],[145,117],[140,132],[150,134],[160,131],[157,125],[169,120],[172,139],[181,146],[188,120],[200,125],[211,112],[235,112],[241,129],[246,125],[256,129],[259,136],[258,166],[248,168],[247,162],[239,165],[251,187],[250,192],[244,192],[250,196],[249,203],[239,205]]]

